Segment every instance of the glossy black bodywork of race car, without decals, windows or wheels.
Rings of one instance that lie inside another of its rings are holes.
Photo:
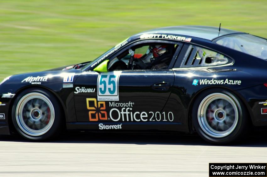
[[[229,34],[234,33],[230,32]],[[220,46],[208,39],[201,39],[187,35],[183,36],[192,38],[191,42],[158,38],[140,39],[140,35],[142,34],[137,34],[129,38],[127,44],[111,53],[104,60],[116,56],[123,50],[128,49],[131,45],[142,42],[171,42],[179,44],[181,48],[175,53],[171,63],[172,68],[169,68],[168,70],[122,71],[118,82],[118,103],[134,103],[128,109],[129,114],[121,114],[120,119],[116,121],[112,120],[111,117],[118,117],[119,114],[116,110],[113,110],[113,113],[110,114],[113,108],[118,109],[119,112],[125,111],[126,108],[122,111],[123,107],[112,107],[110,106],[112,102],[105,101],[105,111],[107,113],[106,120],[101,120],[99,117],[98,121],[89,120],[89,111],[92,110],[88,109],[86,99],[95,99],[96,104],[99,104],[99,101],[97,101],[97,79],[100,73],[93,71],[93,69],[101,62],[93,67],[91,66],[91,64],[101,58],[99,57],[81,70],[73,68],[63,70],[65,67],[62,67],[43,72],[11,76],[7,81],[0,85],[0,102],[6,104],[5,106],[0,106],[0,114],[5,114],[5,119],[0,119],[0,134],[9,134],[13,131],[10,112],[13,107],[14,99],[21,91],[30,87],[45,88],[58,98],[58,101],[62,105],[64,116],[66,117],[68,130],[99,130],[99,124],[104,123],[105,125],[122,124],[122,129],[113,129],[112,131],[160,130],[190,132],[192,131],[190,120],[192,105],[195,98],[201,94],[202,91],[213,87],[225,88],[239,96],[246,105],[248,114],[250,114],[254,126],[267,125],[267,114],[261,114],[261,108],[267,108],[267,105],[259,104],[259,102],[267,100],[267,87],[263,85],[264,83],[267,83],[266,61]],[[184,52],[189,44],[217,51],[231,58],[234,63],[233,65],[222,67],[180,68]],[[72,88],[63,88],[64,73],[65,75],[68,73],[74,74]],[[28,82],[22,82],[29,76],[49,77],[47,81],[42,82],[40,85],[32,85]],[[241,84],[192,85],[194,79],[238,80],[241,81]],[[86,89],[90,88],[94,90],[94,92],[74,93],[77,87],[84,87]],[[12,99],[1,98],[2,94],[6,93],[14,93],[16,95]],[[101,104],[102,103],[100,103],[100,105]],[[132,110],[130,110],[130,108]],[[101,112],[98,106],[95,111]],[[127,115],[131,115],[130,112],[133,114],[139,112],[139,114],[137,113],[135,118],[128,117],[127,119]],[[143,113],[143,117],[141,118],[141,112],[146,112],[147,117],[145,116],[146,114]],[[167,114],[170,116],[170,112],[173,114],[173,120],[166,116]],[[152,114],[154,114],[153,117]],[[105,116],[105,114],[102,115],[103,117]],[[123,118],[122,115],[125,117]]]

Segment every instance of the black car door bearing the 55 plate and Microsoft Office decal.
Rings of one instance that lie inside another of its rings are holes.
[[[170,65],[174,64],[181,47],[179,43]],[[74,84],[77,121],[93,125],[100,122],[137,125],[134,129],[146,129],[140,124],[173,121],[172,115],[161,115],[173,83],[171,69],[88,71]]]

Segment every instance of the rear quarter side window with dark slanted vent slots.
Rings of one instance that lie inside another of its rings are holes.
[[[180,67],[218,66],[232,63],[226,56],[195,45],[189,45]]]

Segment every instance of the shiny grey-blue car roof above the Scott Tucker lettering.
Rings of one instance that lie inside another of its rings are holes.
[[[243,32],[221,28],[221,31],[219,33],[218,27],[185,25],[185,26],[170,26],[170,27],[152,29],[135,34],[134,36],[141,34],[157,34],[157,33],[185,35],[207,40],[213,40],[223,35],[237,34]]]

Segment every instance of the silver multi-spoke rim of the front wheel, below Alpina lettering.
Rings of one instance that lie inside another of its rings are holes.
[[[23,96],[16,107],[19,128],[30,136],[41,136],[48,132],[55,120],[52,102],[45,95],[32,92]]]

